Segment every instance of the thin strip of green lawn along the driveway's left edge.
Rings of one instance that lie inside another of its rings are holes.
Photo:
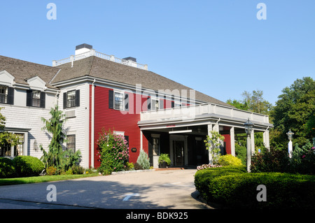
[[[90,178],[99,175],[98,173],[91,174],[71,174],[71,175],[42,175],[28,178],[5,178],[0,179],[0,186],[5,185],[21,185],[35,182],[50,182],[59,180],[71,180],[77,178]]]

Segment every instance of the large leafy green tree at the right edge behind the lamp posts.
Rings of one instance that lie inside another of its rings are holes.
[[[282,143],[287,141],[289,129],[295,133],[293,144],[303,145],[314,137],[315,81],[310,77],[297,79],[285,87],[270,116],[274,129],[281,132]]]

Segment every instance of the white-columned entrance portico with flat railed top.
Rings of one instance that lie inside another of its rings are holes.
[[[269,128],[272,124],[267,115],[213,103],[142,112],[138,125],[148,139],[153,166],[158,166],[160,153],[169,154],[172,166],[186,166],[211,162],[211,155],[204,146],[204,140],[211,131],[225,136],[221,154],[235,156],[235,134],[245,133],[243,124],[248,118],[254,124],[251,154],[255,150],[255,132],[263,132],[264,145],[269,148]],[[153,145],[153,138],[158,138],[158,145]]]

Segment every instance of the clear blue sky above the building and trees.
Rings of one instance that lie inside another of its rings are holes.
[[[48,3],[57,20],[48,20]],[[258,3],[267,20],[258,20]],[[315,77],[315,1],[1,1],[0,55],[50,65],[81,43],[227,101],[260,89],[270,103]]]

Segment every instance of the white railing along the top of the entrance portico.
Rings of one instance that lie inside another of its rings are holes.
[[[145,111],[141,113],[141,121],[150,120],[192,120],[200,115],[214,114],[229,119],[247,120],[252,122],[260,122],[269,124],[268,115],[261,115],[258,113],[251,113],[246,110],[239,110],[237,108],[230,108],[228,106],[221,106],[212,103],[205,103],[196,106],[183,106],[180,108],[167,108],[162,110]]]

